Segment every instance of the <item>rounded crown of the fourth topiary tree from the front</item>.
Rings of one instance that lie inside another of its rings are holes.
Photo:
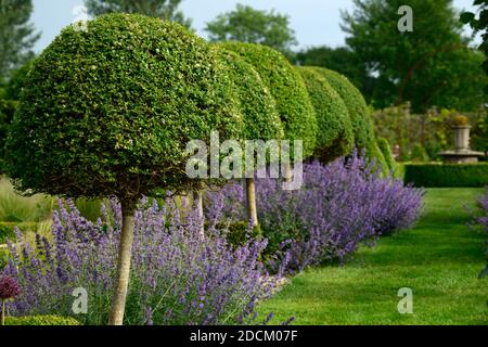
[[[355,144],[349,112],[341,95],[324,76],[313,67],[297,67],[305,80],[310,100],[316,110],[317,149],[314,157],[329,163],[349,154]]]

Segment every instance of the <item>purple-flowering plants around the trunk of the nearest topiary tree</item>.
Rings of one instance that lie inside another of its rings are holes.
[[[277,287],[259,261],[266,241],[240,247],[208,227],[200,233],[197,211],[143,201],[136,214],[133,262],[126,324],[236,324],[253,319],[255,306]],[[184,211],[181,213],[180,210]],[[184,216],[183,216],[184,215]],[[86,324],[105,324],[114,288],[121,213],[111,202],[92,223],[72,202],[53,215],[53,242],[37,237],[29,245],[17,232],[10,243],[4,274],[15,278],[23,295],[9,303],[16,316],[74,316],[73,290],[88,292]]]

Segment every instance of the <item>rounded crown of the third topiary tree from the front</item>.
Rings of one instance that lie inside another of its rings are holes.
[[[286,140],[304,141],[304,157],[316,149],[317,118],[300,74],[280,52],[255,43],[226,42],[222,46],[252,64],[277,102]]]

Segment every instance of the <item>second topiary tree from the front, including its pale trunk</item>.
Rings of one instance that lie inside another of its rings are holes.
[[[221,44],[217,47],[237,94],[237,106],[244,120],[242,139],[264,142],[283,139],[284,131],[277,104],[259,74],[237,53]],[[255,157],[253,162],[255,163]],[[254,175],[254,170],[252,174]],[[253,226],[258,227],[255,181],[251,177],[246,178],[246,197],[248,218]]]

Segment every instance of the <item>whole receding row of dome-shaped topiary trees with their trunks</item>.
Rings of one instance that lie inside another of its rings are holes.
[[[221,140],[303,140],[305,158],[323,162],[359,147],[386,167],[365,102],[345,77],[141,15],[65,28],[34,62],[9,130],[7,170],[20,191],[120,202],[111,324],[124,320],[139,200],[202,189],[185,174],[191,140],[209,143],[214,130]],[[254,180],[246,183],[258,224]]]

